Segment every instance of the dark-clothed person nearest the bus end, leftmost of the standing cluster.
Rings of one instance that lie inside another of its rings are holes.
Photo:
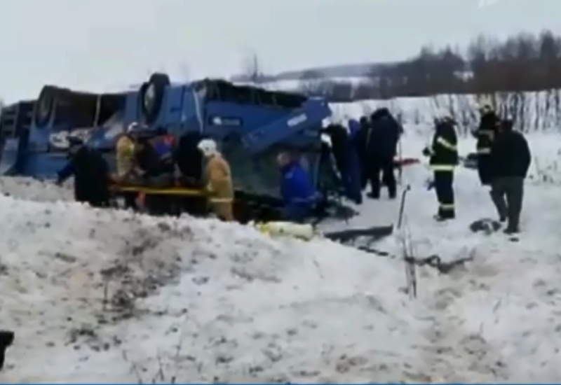
[[[360,162],[349,132],[342,125],[329,125],[324,130],[330,138],[331,151],[341,176],[346,197],[356,204],[363,203],[360,188]]]

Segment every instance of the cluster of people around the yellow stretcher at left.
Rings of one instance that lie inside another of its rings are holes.
[[[115,146],[116,172],[111,172],[102,153],[80,139],[69,139],[69,161],[58,172],[61,184],[74,176],[74,198],[93,207],[109,207],[111,185],[170,188],[177,182],[185,188],[204,190],[189,200],[165,195],[123,193],[128,209],[149,207],[154,214],[169,214],[170,203],[186,204],[188,211],[201,213],[210,207],[224,221],[234,221],[234,188],[229,164],[212,139],[200,134],[175,138],[163,129],[150,130],[136,123],[119,135]]]

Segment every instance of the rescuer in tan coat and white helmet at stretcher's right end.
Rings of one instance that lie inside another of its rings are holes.
[[[234,186],[230,165],[222,157],[216,142],[212,139],[201,140],[198,150],[203,153],[206,160],[204,175],[210,209],[222,221],[234,221]]]

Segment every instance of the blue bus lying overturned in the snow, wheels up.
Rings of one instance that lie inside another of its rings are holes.
[[[38,99],[1,111],[0,173],[54,176],[65,165],[70,136],[107,153],[111,163],[117,135],[139,122],[176,137],[197,131],[217,140],[236,190],[278,195],[280,150],[301,155],[318,188],[325,189],[332,174],[321,156],[320,134],[330,115],[325,99],[226,80],[177,84],[163,73],[154,73],[137,90],[108,94],[46,85]]]

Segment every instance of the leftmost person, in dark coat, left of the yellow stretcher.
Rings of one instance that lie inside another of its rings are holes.
[[[69,139],[69,162],[58,172],[61,185],[74,176],[74,199],[92,207],[109,206],[109,166],[101,153],[88,148],[81,139]]]

